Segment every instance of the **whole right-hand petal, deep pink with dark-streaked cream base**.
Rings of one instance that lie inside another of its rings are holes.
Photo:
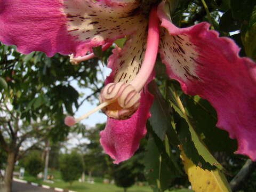
[[[161,6],[160,53],[169,77],[177,79],[185,93],[211,102],[218,114],[217,126],[238,140],[237,153],[256,161],[255,63],[240,58],[234,41],[209,30],[209,23],[175,27]]]

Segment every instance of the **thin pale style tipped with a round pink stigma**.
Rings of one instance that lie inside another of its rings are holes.
[[[68,125],[68,126],[73,126],[75,125],[77,122],[79,121],[82,121],[83,119],[89,117],[90,115],[92,115],[93,113],[95,113],[96,111],[104,108],[104,107],[107,107],[108,105],[110,105],[111,103],[115,102],[115,100],[110,100],[110,101],[106,101],[106,102],[103,102],[101,103],[99,106],[95,107],[94,109],[92,109],[91,111],[85,113],[84,115],[78,117],[78,118],[74,118],[74,117],[71,117],[71,116],[67,116],[65,118],[65,124]]]

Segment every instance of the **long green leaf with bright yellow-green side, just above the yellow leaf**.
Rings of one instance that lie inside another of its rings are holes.
[[[175,111],[182,117],[184,120],[180,119],[177,126],[179,127],[179,139],[181,145],[184,147],[186,155],[193,161],[194,164],[201,166],[203,169],[214,169],[213,166],[218,167],[222,170],[223,167],[220,163],[212,156],[210,151],[207,149],[201,138],[197,135],[195,127],[191,122],[183,104],[175,90],[174,86],[171,86],[169,89],[169,98],[170,103]],[[188,131],[189,130],[189,131]],[[190,133],[189,133],[190,132]],[[191,141],[189,142],[191,138]],[[196,150],[191,151],[194,147]],[[201,158],[202,157],[202,158]],[[210,164],[210,165],[209,165]]]

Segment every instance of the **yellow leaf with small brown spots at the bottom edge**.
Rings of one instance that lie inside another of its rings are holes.
[[[195,192],[231,192],[225,175],[218,169],[203,170],[186,157],[180,147],[182,163]]]

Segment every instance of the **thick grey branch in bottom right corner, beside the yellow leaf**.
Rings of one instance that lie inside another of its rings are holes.
[[[248,159],[242,169],[230,181],[230,187],[233,192],[238,191],[242,187],[242,183],[253,173],[256,168],[256,162]]]

